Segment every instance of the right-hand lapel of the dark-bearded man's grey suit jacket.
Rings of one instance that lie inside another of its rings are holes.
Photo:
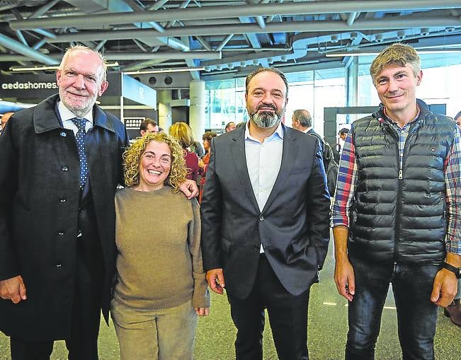
[[[283,131],[283,154],[282,154],[282,163],[280,164],[280,170],[277,175],[277,180],[275,180],[275,184],[272,188],[271,194],[267,199],[266,205],[264,205],[264,209],[261,212],[265,212],[272,204],[274,199],[278,196],[280,190],[283,189],[285,186],[285,182],[290,175],[291,168],[295,163],[295,158],[299,151],[297,137],[294,137],[294,132],[291,129],[288,129],[284,125],[282,125]],[[295,130],[297,131],[297,130]]]

